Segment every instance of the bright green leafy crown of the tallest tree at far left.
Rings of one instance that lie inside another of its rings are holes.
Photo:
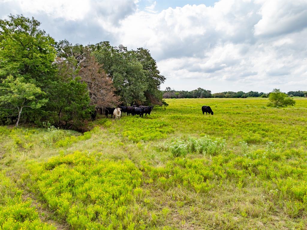
[[[54,80],[54,40],[40,24],[23,15],[0,19],[0,78],[23,77],[40,88]]]

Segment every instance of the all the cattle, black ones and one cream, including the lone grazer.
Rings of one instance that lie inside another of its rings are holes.
[[[110,114],[111,118],[114,115],[115,119],[119,119],[122,113],[127,113],[127,116],[129,116],[130,114],[132,116],[140,115],[140,117],[143,117],[145,113],[145,116],[147,116],[147,114],[150,115],[150,112],[152,111],[152,109],[153,109],[152,105],[151,106],[140,105],[139,107],[137,107],[136,105],[133,105],[133,106],[120,106],[118,108],[107,107],[104,109],[104,111],[105,111],[106,117],[108,117],[108,115]],[[203,114],[206,113],[207,115],[207,113],[209,113],[213,115],[213,111],[210,108],[210,106],[204,105],[203,107],[201,107],[201,110],[203,111]],[[96,119],[96,115],[97,115],[97,111],[94,111],[91,113],[92,121]]]

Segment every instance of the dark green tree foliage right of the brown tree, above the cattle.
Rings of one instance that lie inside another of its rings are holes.
[[[113,47],[107,41],[96,44],[93,49],[99,64],[112,78],[115,93],[123,103],[161,104],[159,88],[165,77],[160,75],[149,50],[138,48],[129,51],[122,45]]]

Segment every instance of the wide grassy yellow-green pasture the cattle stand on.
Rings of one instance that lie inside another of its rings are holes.
[[[307,229],[307,98],[166,99],[80,134],[0,126],[0,229]],[[214,115],[203,115],[208,105]]]

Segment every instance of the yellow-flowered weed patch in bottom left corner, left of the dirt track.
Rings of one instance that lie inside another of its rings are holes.
[[[3,230],[55,230],[52,225],[42,223],[31,201],[22,201],[22,191],[0,172],[0,229]]]

